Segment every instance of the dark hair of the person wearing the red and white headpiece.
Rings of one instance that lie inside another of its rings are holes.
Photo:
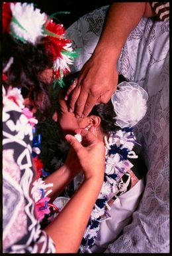
[[[52,68],[53,60],[44,48],[44,38],[36,45],[22,43],[13,39],[11,35],[3,35],[3,68],[9,59],[13,57],[13,64],[7,70],[7,80],[3,82],[8,86],[21,88],[22,95],[28,96],[34,102],[40,116],[50,116],[52,104],[48,90],[50,85],[40,80],[40,74],[46,68]]]

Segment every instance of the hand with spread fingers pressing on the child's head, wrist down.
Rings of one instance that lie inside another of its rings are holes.
[[[69,111],[75,112],[77,117],[87,116],[95,104],[108,102],[117,82],[114,60],[110,60],[109,56],[92,55],[65,94],[65,100],[71,94]]]

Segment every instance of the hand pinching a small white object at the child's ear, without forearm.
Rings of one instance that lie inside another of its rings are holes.
[[[87,130],[79,129],[76,132],[83,136],[85,146],[80,144],[72,135],[67,134],[65,138],[75,150],[79,164],[85,174],[85,180],[96,178],[97,181],[103,182],[105,171],[105,146],[103,142]]]

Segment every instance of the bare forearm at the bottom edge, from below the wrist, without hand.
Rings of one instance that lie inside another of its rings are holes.
[[[87,180],[45,231],[52,237],[58,253],[76,253],[103,180]]]

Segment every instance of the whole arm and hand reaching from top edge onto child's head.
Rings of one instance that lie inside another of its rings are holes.
[[[87,116],[98,102],[108,102],[116,90],[116,64],[128,35],[142,17],[153,15],[150,3],[112,3],[93,55],[83,65],[77,85],[72,84],[65,95],[67,100],[71,94],[69,110],[77,117]]]

